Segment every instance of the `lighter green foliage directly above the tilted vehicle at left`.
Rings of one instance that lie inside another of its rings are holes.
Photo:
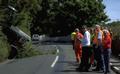
[[[39,3],[41,0],[9,0],[10,5],[14,6],[18,12],[13,25],[19,26],[23,31],[30,35],[30,25],[34,21],[37,11],[41,10]],[[28,32],[29,31],[29,32]]]

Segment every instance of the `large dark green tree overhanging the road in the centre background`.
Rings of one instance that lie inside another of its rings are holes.
[[[102,0],[42,0],[41,7],[31,26],[35,33],[67,35],[75,27],[108,20]]]

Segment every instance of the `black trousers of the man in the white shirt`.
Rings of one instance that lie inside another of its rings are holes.
[[[81,63],[79,65],[79,70],[85,70],[87,71],[90,68],[90,57],[92,55],[91,52],[92,47],[90,46],[85,46],[82,47],[82,58],[81,58]]]

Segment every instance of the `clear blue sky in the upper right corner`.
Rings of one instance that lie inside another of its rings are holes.
[[[120,0],[103,0],[105,12],[111,21],[120,20]]]

